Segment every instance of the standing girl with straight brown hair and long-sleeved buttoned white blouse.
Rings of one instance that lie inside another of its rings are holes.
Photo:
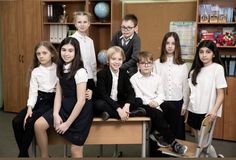
[[[188,68],[181,58],[179,36],[168,32],[162,40],[161,56],[154,62],[154,72],[162,77],[165,101],[175,106],[175,117],[169,117],[176,138],[185,139],[184,113],[188,105]]]

